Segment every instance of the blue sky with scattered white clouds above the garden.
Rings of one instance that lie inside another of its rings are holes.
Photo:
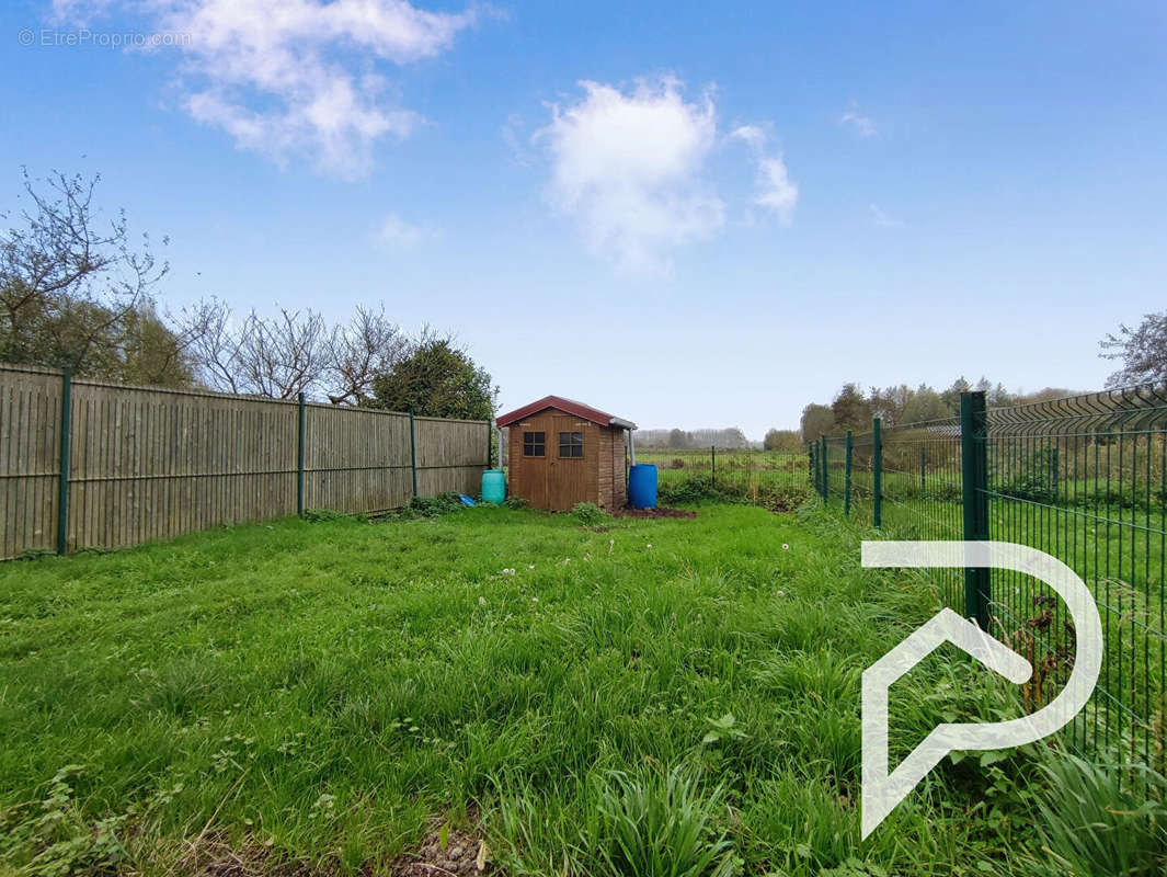
[[[1163,307],[1165,46],[1162,4],[15,0],[0,208],[100,172],[170,308],[383,302],[503,409],[761,438],[844,381],[1100,387]]]

